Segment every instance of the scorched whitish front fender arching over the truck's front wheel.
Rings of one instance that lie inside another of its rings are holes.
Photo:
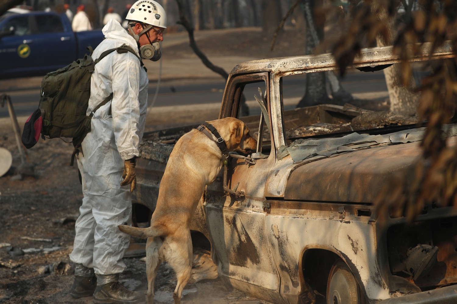
[[[289,207],[298,206],[293,203],[291,202]],[[316,205],[318,204],[316,202]],[[304,209],[280,210],[276,209],[276,206],[278,204],[271,201],[271,214],[266,217],[267,225],[274,227],[270,231],[269,238],[272,255],[277,257],[275,258],[276,263],[299,264],[303,250],[306,252],[307,249],[322,248],[343,258],[345,263],[350,266],[357,281],[361,282],[362,289],[366,291],[370,299],[385,299],[389,296],[389,290],[383,278],[379,276],[376,280],[372,278],[372,274],[379,273],[380,270],[376,259],[377,248],[374,243],[369,242],[375,238],[374,222],[370,222],[369,218],[361,218],[347,212],[345,220],[340,220],[337,216],[338,208],[336,206],[332,208],[333,214],[324,214],[322,211],[314,213]],[[277,232],[274,232],[276,227],[277,231],[287,232],[288,242],[278,240]],[[292,240],[290,236],[296,237]],[[289,252],[289,254],[285,256],[283,252]],[[288,262],[282,261],[284,258]],[[296,301],[293,300],[293,295],[306,290],[306,286],[302,286],[303,283],[298,287],[293,286],[295,278],[290,272],[291,268],[284,267],[278,270],[281,285],[288,285],[290,289],[289,294],[283,294],[283,297],[293,303]],[[313,274],[304,273],[304,275],[313,278]]]

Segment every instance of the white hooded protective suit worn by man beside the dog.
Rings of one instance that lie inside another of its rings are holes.
[[[124,43],[138,53],[137,42],[119,22],[110,20],[102,31],[106,39],[94,50],[94,59]],[[108,54],[96,64],[91,77],[87,115],[111,93],[113,98],[92,117],[91,130],[81,144],[82,153],[77,155],[84,197],[70,260],[94,268],[99,275],[122,273],[126,268],[122,256],[130,237],[117,225],[130,224],[132,198],[130,185],[120,183],[124,160],[139,155],[148,84],[139,59],[130,52]]]

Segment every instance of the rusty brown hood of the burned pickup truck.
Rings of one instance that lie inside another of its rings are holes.
[[[449,137],[448,145],[456,139]],[[292,169],[284,199],[373,203],[396,175],[406,179],[406,186],[414,181],[421,153],[418,141],[330,155]]]

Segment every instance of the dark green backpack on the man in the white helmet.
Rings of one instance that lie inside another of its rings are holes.
[[[113,94],[111,93],[92,110],[89,116],[86,116],[90,98],[90,76],[94,72],[95,65],[114,51],[131,52],[138,57],[135,51],[125,44],[106,50],[95,60],[91,57],[92,47],[87,47],[87,50],[90,52],[89,55],[85,55],[84,58],[55,72],[49,72],[41,82],[41,96],[38,104],[43,119],[41,137],[43,139],[46,137],[73,138],[74,151],[70,165],[73,165],[74,155],[79,151],[85,135],[90,132],[92,116],[101,106],[112,99]],[[141,59],[138,57],[138,60]]]

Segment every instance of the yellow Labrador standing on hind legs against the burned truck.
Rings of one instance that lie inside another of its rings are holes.
[[[189,225],[205,185],[214,181],[222,168],[224,158],[228,156],[228,151],[249,153],[256,148],[257,141],[250,136],[248,127],[241,120],[228,117],[207,123],[209,125],[203,127],[202,124],[198,129],[184,134],[171,151],[160,182],[159,197],[151,217],[151,226],[136,228],[119,225],[123,232],[148,239],[148,304],[154,303],[154,281],[163,261],[169,263],[176,273],[178,283],[173,299],[175,304],[181,303],[181,293],[191,276],[192,268]],[[222,147],[218,143],[222,142],[221,139],[225,143]]]

